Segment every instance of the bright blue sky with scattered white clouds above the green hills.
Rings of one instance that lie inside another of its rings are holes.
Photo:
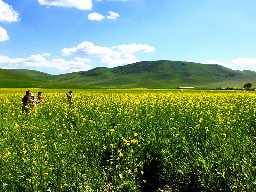
[[[255,0],[0,0],[0,68],[49,74],[144,60],[256,71]]]

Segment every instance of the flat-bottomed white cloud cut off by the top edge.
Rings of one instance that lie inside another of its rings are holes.
[[[41,5],[76,7],[81,10],[91,10],[92,0],[37,0]]]

